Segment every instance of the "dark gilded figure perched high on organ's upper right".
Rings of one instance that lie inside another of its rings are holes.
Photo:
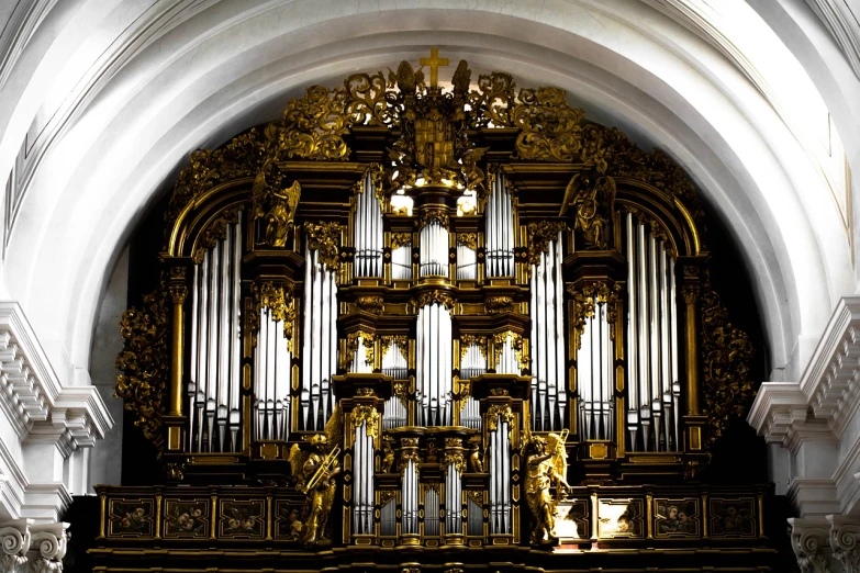
[[[576,213],[574,228],[582,233],[584,247],[605,249],[614,205],[615,181],[597,173],[596,169],[588,169],[574,175],[568,183],[561,214],[572,207]]]

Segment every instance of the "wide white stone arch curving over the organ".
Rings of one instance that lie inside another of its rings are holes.
[[[786,375],[798,375],[834,301],[852,286],[838,213],[790,130],[719,52],[648,5],[201,5],[90,97],[26,190],[3,283],[66,383],[75,369],[86,379],[120,246],[192,149],[270,117],[309,83],[415,60],[431,45],[476,69],[511,70],[521,85],[566,88],[599,121],[667,149],[741,245],[774,366]],[[0,167],[13,135],[3,134]]]

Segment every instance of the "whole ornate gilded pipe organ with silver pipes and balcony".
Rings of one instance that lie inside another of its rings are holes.
[[[716,361],[751,350],[683,172],[555,88],[471,89],[465,61],[450,89],[386,78],[309,88],[180,177],[118,384],[165,464],[153,519],[191,512],[206,547],[257,553],[539,566],[515,547],[764,539],[764,490],[707,482],[708,408],[751,387],[726,394]],[[123,491],[101,493],[109,549]],[[150,531],[168,552],[197,539],[171,524]]]

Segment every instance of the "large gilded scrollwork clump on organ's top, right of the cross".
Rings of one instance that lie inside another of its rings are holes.
[[[520,159],[572,161],[582,147],[584,112],[565,101],[558,88],[521,89],[511,119],[522,132],[516,137]]]

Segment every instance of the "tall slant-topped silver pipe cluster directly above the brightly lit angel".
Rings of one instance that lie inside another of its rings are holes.
[[[565,306],[561,284],[561,233],[550,241],[540,262],[532,266],[532,345],[534,374],[532,425],[560,430],[565,425]],[[581,380],[581,378],[580,378]]]

